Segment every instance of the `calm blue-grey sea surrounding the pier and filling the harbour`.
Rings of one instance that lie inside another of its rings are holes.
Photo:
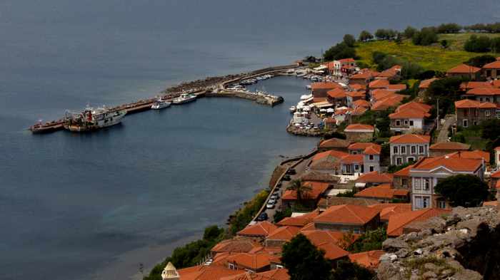
[[[0,1],[0,279],[128,279],[266,186],[305,81],[275,108],[201,99],[98,133],[31,135],[66,109],[318,55],[344,33],[500,21],[488,1]]]

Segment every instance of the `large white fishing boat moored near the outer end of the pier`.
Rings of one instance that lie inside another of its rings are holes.
[[[87,107],[81,113],[66,111],[63,125],[66,130],[84,133],[117,125],[125,115],[126,110],[109,110],[104,106],[96,109]]]

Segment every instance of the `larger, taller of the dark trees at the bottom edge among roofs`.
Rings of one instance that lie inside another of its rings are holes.
[[[331,265],[324,252],[304,234],[297,234],[283,245],[281,263],[288,269],[290,280],[328,280],[331,276]]]

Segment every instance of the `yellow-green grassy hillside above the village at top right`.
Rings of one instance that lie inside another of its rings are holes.
[[[373,66],[372,53],[381,51],[398,58],[406,59],[414,63],[418,63],[426,70],[446,71],[464,61],[469,60],[474,56],[480,56],[484,53],[469,53],[462,51],[464,43],[472,33],[459,34],[441,34],[439,41],[446,39],[450,46],[447,49],[441,48],[439,43],[433,46],[415,46],[410,40],[404,40],[401,44],[394,41],[371,41],[367,43],[359,43],[356,46],[356,53],[361,59],[359,61]],[[500,36],[500,34],[477,34],[486,36]],[[492,54],[492,53],[489,53]],[[492,54],[500,56],[500,53]]]

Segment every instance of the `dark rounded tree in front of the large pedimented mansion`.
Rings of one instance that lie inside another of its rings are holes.
[[[488,185],[474,175],[447,177],[436,185],[435,190],[453,207],[477,207],[489,196]]]

